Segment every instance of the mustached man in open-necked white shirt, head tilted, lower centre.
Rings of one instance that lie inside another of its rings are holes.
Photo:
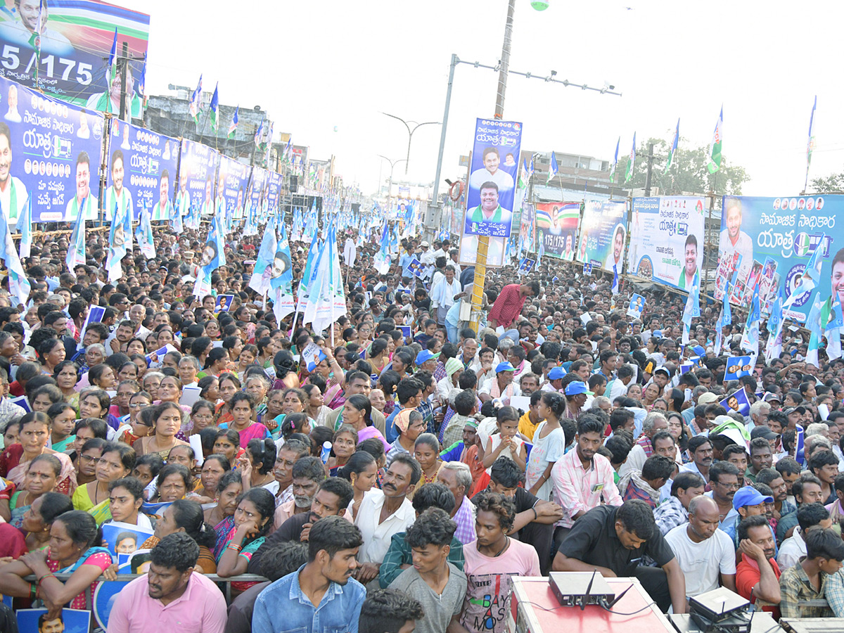
[[[413,492],[421,476],[419,463],[409,453],[399,453],[387,468],[381,490],[370,490],[360,502],[354,524],[364,538],[358,555],[360,571],[357,576],[363,584],[377,582],[392,535],[406,531],[416,519],[414,506],[407,495]]]

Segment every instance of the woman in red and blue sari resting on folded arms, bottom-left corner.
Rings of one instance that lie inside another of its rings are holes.
[[[88,512],[73,510],[57,517],[50,528],[50,547],[24,554],[0,567],[0,592],[16,598],[42,598],[85,609],[85,592],[95,592],[96,579],[111,565],[108,549],[98,547],[102,533]],[[56,573],[69,573],[60,581]],[[35,575],[36,582],[24,581]]]

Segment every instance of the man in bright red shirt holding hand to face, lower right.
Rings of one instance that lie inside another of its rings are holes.
[[[736,565],[738,595],[751,603],[761,600],[762,610],[779,619],[780,568],[774,560],[774,536],[765,515],[742,519],[738,523],[738,539],[742,555]]]

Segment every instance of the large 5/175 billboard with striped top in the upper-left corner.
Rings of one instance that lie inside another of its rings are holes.
[[[106,68],[117,30],[117,51],[127,43],[132,114],[140,117],[138,78],[147,52],[149,15],[97,0],[46,0],[41,9],[41,57],[35,53],[38,0],[0,8],[0,74],[89,111],[120,112],[121,76]],[[36,72],[37,71],[37,72]]]

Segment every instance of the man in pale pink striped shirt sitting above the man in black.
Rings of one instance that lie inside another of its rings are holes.
[[[596,452],[603,442],[603,423],[590,414],[577,421],[576,450],[569,451],[551,469],[554,499],[563,508],[555,541],[571,530],[577,519],[602,504],[620,506],[609,459]]]

